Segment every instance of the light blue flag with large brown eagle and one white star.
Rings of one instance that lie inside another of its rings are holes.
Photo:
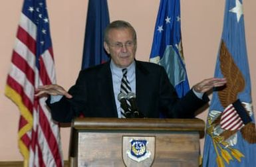
[[[215,77],[226,78],[227,84],[213,91],[207,116],[203,166],[256,166],[255,118],[242,0],[225,1]]]

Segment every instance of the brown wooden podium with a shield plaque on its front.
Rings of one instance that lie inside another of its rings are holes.
[[[70,166],[199,166],[200,119],[78,118]]]

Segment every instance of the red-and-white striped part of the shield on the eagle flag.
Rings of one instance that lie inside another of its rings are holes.
[[[238,131],[244,124],[233,104],[227,106],[221,115],[221,128],[229,131]]]

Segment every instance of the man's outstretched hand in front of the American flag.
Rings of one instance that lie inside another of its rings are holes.
[[[72,98],[63,87],[57,84],[39,86],[36,90],[35,96],[40,97],[43,95],[64,95],[66,98]]]

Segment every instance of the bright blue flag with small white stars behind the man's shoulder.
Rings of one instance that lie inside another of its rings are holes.
[[[190,90],[182,50],[180,0],[160,1],[150,62],[164,66],[179,97]]]

